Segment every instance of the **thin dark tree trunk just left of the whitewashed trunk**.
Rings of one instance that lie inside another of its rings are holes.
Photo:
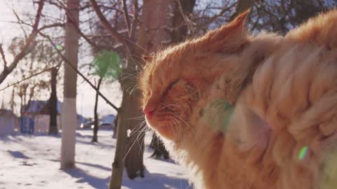
[[[58,76],[58,70],[53,67],[51,69],[51,97],[49,98],[49,113],[50,113],[50,125],[49,134],[58,134],[58,96],[56,94],[56,77]]]

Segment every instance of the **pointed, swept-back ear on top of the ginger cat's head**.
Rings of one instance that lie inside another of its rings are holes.
[[[232,22],[201,38],[201,45],[213,52],[237,52],[247,44],[246,18],[250,9],[237,16]]]

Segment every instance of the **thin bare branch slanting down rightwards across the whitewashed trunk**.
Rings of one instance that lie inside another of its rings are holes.
[[[43,33],[41,33],[41,32],[39,32],[39,34],[42,36],[42,37],[44,37],[44,38],[46,38],[46,39],[48,39],[48,41],[53,45],[53,46],[55,46],[55,43],[53,42],[53,40],[51,40],[51,37],[50,36],[48,36],[48,35],[46,35],[46,34],[43,34]],[[74,69],[74,71],[76,71],[77,72],[77,74],[79,74],[79,76],[81,76],[81,78],[83,78],[84,80],[86,80],[86,83],[88,83],[96,92],[98,92],[98,95],[100,95],[100,97],[102,97],[104,100],[105,100],[105,102],[107,103],[107,104],[109,104],[110,106],[112,106],[112,108],[113,109],[115,109],[117,112],[119,111],[119,108],[117,108],[117,106],[114,106],[114,104],[112,104],[112,102],[110,102],[110,100],[109,99],[107,99],[107,97],[105,97],[101,92],[100,92],[100,90],[98,90],[98,88],[97,87],[95,87],[95,85],[93,85],[93,83],[91,83],[90,82],[90,80],[88,80],[88,78],[86,78],[86,76],[84,76],[74,65],[72,65],[72,63],[71,62],[69,62],[69,60],[64,56],[64,55],[62,55],[62,52],[60,52],[60,50],[58,50],[57,48],[55,49],[56,50],[56,52],[58,52],[58,55],[60,55],[60,57],[62,58],[62,60],[65,62],[65,63],[67,63],[70,67],[72,67],[72,69]]]

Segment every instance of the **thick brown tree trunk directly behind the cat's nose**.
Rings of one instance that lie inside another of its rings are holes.
[[[143,18],[138,32],[137,45],[149,52],[157,51],[160,42],[164,40],[165,29],[163,26],[166,24],[169,3],[171,1],[143,1]],[[130,55],[128,55],[127,66],[123,70],[123,74],[130,76],[138,74],[136,62],[142,61],[139,59],[144,52],[142,48],[128,48]],[[131,57],[131,55],[133,56]],[[118,112],[117,146],[112,164],[110,189],[121,188],[124,165],[130,179],[134,179],[138,175],[144,176],[144,133],[140,131],[143,130],[145,125],[142,125],[143,120],[135,119],[143,116],[143,112],[139,108],[139,90],[136,89],[131,94],[129,93],[129,89],[134,87],[134,83],[136,83],[136,78],[121,80],[123,98]],[[129,138],[127,137],[128,130],[132,131]]]

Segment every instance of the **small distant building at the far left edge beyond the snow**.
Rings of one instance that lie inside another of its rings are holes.
[[[18,118],[12,111],[0,109],[0,136],[14,134],[18,124]]]

